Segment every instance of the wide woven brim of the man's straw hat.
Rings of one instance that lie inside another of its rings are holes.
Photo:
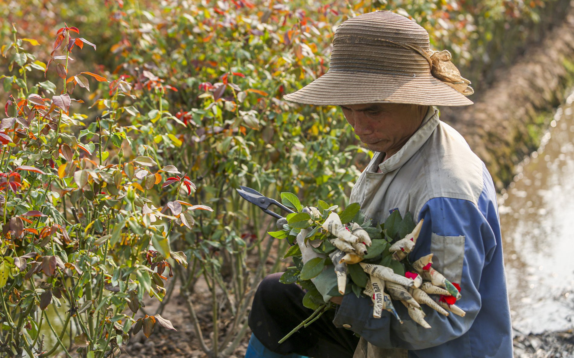
[[[329,70],[285,100],[314,105],[405,103],[458,106],[472,101],[433,77]]]

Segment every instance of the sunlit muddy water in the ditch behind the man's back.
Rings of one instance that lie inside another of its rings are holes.
[[[574,318],[574,92],[499,197],[513,327],[563,331]]]

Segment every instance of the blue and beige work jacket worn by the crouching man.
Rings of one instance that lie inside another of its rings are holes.
[[[404,321],[400,324],[384,310],[381,318],[373,318],[370,298],[347,294],[333,323],[362,337],[355,358],[511,358],[497,200],[484,163],[439,120],[434,107],[397,154],[381,163],[382,155],[375,154],[359,176],[350,202],[360,203],[363,213],[378,222],[395,208],[424,219],[410,259],[435,254],[433,267],[460,284],[456,305],[466,316],[445,317],[423,305],[432,326],[425,329],[410,320],[403,305],[395,305]]]

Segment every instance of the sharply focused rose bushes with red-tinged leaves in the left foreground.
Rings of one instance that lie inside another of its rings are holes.
[[[83,101],[71,96],[75,86],[90,91],[91,81],[92,89],[105,89],[108,81],[72,69],[72,54],[84,44],[96,47],[73,38],[78,33],[76,27],[58,30],[47,64],[26,52],[22,40],[37,43],[18,38],[15,29],[2,51],[13,56],[9,69],[19,68],[11,76],[18,88],[7,86],[13,93],[0,125],[0,336],[4,352],[16,356],[38,356],[34,351],[42,346],[41,356],[69,356],[62,340],[72,326],[76,352],[91,357],[118,351],[132,326],[132,333],[143,328],[146,336],[154,326],[174,329],[160,312],[135,314],[145,296],[164,300],[174,266],[187,267],[186,253],[172,251],[181,241],[174,231],[189,233],[195,210],[212,211],[184,198],[195,184],[187,175],[167,175],[179,173],[176,166],[153,169],[165,163],[157,155],[162,147],[129,139],[125,132],[141,126],[123,127],[117,105],[86,124]],[[32,69],[57,85],[28,81]],[[113,91],[96,90],[99,101],[130,97],[130,85],[121,79],[109,87]],[[47,342],[45,335],[51,336]]]

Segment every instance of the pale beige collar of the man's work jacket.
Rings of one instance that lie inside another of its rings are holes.
[[[439,109],[435,106],[429,106],[426,116],[422,120],[421,126],[414,132],[413,136],[396,152],[391,158],[379,164],[381,172],[386,174],[402,167],[420,148],[422,144],[429,139],[430,134],[439,125]],[[379,152],[378,156],[382,154]]]

